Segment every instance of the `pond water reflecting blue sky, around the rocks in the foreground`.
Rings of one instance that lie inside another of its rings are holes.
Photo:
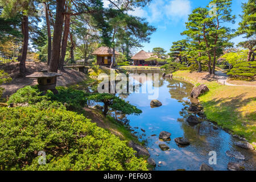
[[[142,84],[152,86],[152,81],[149,80]],[[210,151],[217,153],[217,165],[212,165],[215,170],[226,170],[229,162],[241,162],[246,169],[256,169],[255,152],[234,146],[236,139],[221,129],[214,129],[212,123],[204,121],[192,127],[187,122],[177,121],[177,118],[183,118],[179,112],[184,108],[184,101],[189,100],[189,94],[193,88],[191,84],[176,80],[162,80],[162,85],[159,86],[158,100],[163,104],[160,107],[150,107],[151,100],[148,100],[148,94],[132,93],[125,98],[130,104],[143,111],[140,115],[129,115],[127,119],[130,120],[130,126],[133,129],[139,127],[139,129],[134,129],[137,132],[136,135],[142,136],[141,140],[147,140],[146,146],[149,148],[151,158],[155,159],[157,165],[160,165],[156,166],[156,170],[199,170],[202,163],[208,164]],[[143,133],[141,129],[146,130],[146,133]],[[159,141],[158,136],[161,131],[168,131],[172,134],[170,142]],[[156,136],[151,137],[153,134]],[[191,144],[179,148],[174,138],[183,136],[187,137]],[[159,143],[166,143],[171,150],[160,150]],[[225,154],[227,150],[240,151],[249,160],[229,158]],[[158,164],[159,162],[162,163]]]

